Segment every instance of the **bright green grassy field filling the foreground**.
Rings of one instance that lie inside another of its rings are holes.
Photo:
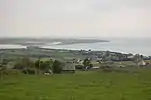
[[[151,100],[151,70],[5,76],[0,100]]]

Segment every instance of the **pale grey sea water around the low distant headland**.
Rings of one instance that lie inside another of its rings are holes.
[[[70,45],[58,45],[47,43],[41,48],[68,49],[68,50],[94,50],[94,51],[113,51],[121,53],[143,54],[151,56],[151,38],[108,38],[110,42],[100,43],[80,43]],[[56,41],[59,42],[59,41]],[[0,49],[26,48],[26,46],[9,44],[0,45]]]

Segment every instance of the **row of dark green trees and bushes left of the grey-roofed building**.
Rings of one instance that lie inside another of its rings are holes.
[[[0,66],[0,72],[6,71],[6,67],[9,61],[4,59],[1,62]],[[43,61],[41,59],[38,59],[36,61],[31,60],[29,57],[23,57],[21,59],[16,60],[15,64],[13,65],[13,68],[11,70],[18,70],[20,72],[23,72],[24,74],[43,74],[45,72],[49,72],[51,70],[53,73],[59,74],[62,71],[62,63],[57,60],[46,60]]]

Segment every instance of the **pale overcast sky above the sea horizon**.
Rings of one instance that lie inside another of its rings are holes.
[[[151,37],[151,0],[0,0],[0,36]]]

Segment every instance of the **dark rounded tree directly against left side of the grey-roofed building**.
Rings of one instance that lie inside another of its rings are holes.
[[[55,60],[52,68],[53,68],[53,73],[60,74],[62,72],[62,63]]]

